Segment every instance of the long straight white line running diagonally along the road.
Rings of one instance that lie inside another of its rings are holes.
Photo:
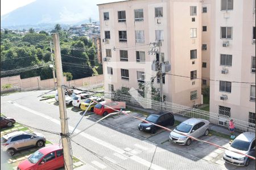
[[[48,119],[48,120],[50,120],[50,121],[52,121],[52,122],[55,122],[56,124],[60,125],[60,121],[59,121],[59,120],[56,120],[55,118],[49,117],[49,116],[47,116],[46,114],[43,114],[43,113],[34,111],[34,110],[30,109],[30,108],[24,107],[23,105],[20,105],[20,104],[17,104],[17,103],[13,103],[13,104],[14,104],[16,107],[22,108],[22,109],[24,109],[24,110],[26,110],[26,111],[28,111],[28,112],[31,112],[31,113],[36,114],[36,115],[38,115],[38,116],[44,117],[44,118],[46,118],[46,119]],[[74,129],[72,126],[68,126],[68,128],[69,128],[71,131]],[[75,130],[75,133],[79,133],[80,131],[81,131],[81,130],[76,129],[76,130]],[[98,138],[96,138],[96,137],[93,137],[92,135],[86,134],[86,133],[84,133],[84,132],[80,133],[80,135],[82,135],[83,137],[89,139],[90,141],[93,141],[93,142],[98,143],[98,144],[101,145],[101,146],[104,146],[104,147],[106,147],[106,148],[109,148],[110,150],[113,150],[113,151],[117,152],[118,154],[123,155],[123,154],[127,153],[126,151],[122,150],[121,148],[119,148],[119,147],[117,147],[117,146],[114,146],[114,145],[112,145],[111,143],[102,141],[101,139],[98,139]],[[144,160],[144,159],[142,159],[142,158],[139,157],[139,156],[136,156],[136,155],[133,155],[133,154],[130,154],[130,153],[129,153],[129,155],[131,155],[131,156],[126,156],[126,157],[127,157],[127,158],[130,158],[131,160],[134,160],[134,161],[137,162],[137,163],[143,164],[143,165],[145,165],[146,167],[150,167],[150,166],[151,166],[151,169],[157,169],[157,170],[158,170],[158,169],[159,169],[159,170],[160,170],[160,169],[163,169],[163,170],[165,169],[165,168],[163,168],[163,167],[160,167],[159,165],[156,165],[156,164],[153,164],[153,163],[151,163],[151,162],[148,162],[147,160]],[[125,155],[124,155],[124,156],[125,156]]]

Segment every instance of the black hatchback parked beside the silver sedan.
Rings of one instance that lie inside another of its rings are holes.
[[[154,114],[150,114],[146,118],[146,121],[152,122],[154,124],[158,124],[161,126],[172,126],[174,125],[174,114],[171,112],[164,112],[164,111],[159,111]],[[158,126],[148,124],[147,122],[141,122],[139,124],[139,130],[143,131],[150,131],[152,134],[156,133],[156,130],[159,129]]]

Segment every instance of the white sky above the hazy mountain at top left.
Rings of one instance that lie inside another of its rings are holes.
[[[1,15],[7,14],[16,8],[22,7],[27,5],[28,3],[34,2],[36,0],[1,0]],[[54,0],[52,0],[54,1]],[[70,0],[76,1],[76,0]],[[85,0],[88,1],[88,0]],[[108,3],[108,2],[115,2],[121,0],[97,0],[99,3]]]

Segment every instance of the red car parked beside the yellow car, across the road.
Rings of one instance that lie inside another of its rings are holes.
[[[113,109],[110,109],[109,107],[106,107],[105,105],[108,105],[109,107],[112,107],[114,109],[120,110],[125,109],[125,103],[121,101],[102,101],[100,104],[96,104],[93,112],[96,114],[99,114],[101,116],[106,116],[109,113],[115,112]]]

